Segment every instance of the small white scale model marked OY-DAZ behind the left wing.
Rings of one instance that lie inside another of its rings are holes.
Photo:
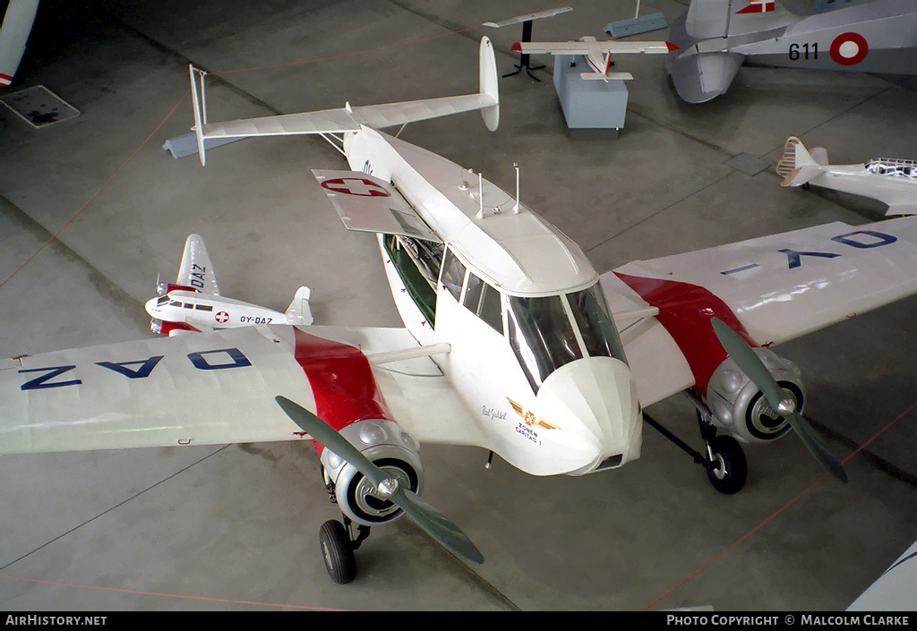
[[[215,328],[251,325],[311,325],[309,288],[300,287],[286,313],[220,295],[214,264],[207,254],[204,239],[190,235],[185,241],[178,279],[156,282],[157,296],[147,301],[153,318],[149,328],[162,335],[209,333]]]

